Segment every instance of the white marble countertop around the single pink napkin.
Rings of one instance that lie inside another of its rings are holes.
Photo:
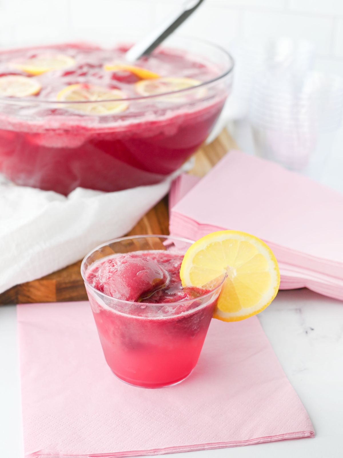
[[[192,452],[192,458],[343,456],[343,302],[306,289],[281,291],[263,329],[316,430],[314,439]],[[16,308],[0,307],[0,456],[22,458]],[[186,458],[185,453],[173,454]]]

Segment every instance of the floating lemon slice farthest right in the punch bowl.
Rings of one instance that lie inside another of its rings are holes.
[[[175,92],[182,89],[188,89],[189,87],[198,86],[201,84],[201,81],[195,80],[193,78],[174,78],[174,77],[163,77],[158,78],[153,81],[143,80],[135,83],[136,92],[139,95],[149,96],[149,95],[158,95],[166,92]],[[205,88],[202,88],[202,91],[198,91],[196,98],[199,98],[203,95]],[[168,100],[180,100],[185,98],[185,94],[168,94],[163,97]]]

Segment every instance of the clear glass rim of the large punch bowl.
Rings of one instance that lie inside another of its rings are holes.
[[[154,95],[148,95],[148,96],[127,97],[127,98],[111,98],[111,99],[101,100],[100,102],[102,102],[102,103],[106,102],[107,103],[107,102],[129,102],[129,101],[139,101],[139,100],[142,101],[142,100],[151,100],[151,99],[155,99],[155,98],[160,98],[160,97],[168,96],[168,95],[171,95],[171,94],[189,93],[190,91],[196,91],[200,87],[206,87],[211,83],[219,81],[219,80],[223,79],[225,76],[227,76],[230,73],[232,73],[232,71],[233,71],[233,69],[235,67],[235,60],[230,55],[230,53],[228,53],[226,51],[226,49],[224,47],[220,46],[219,44],[213,43],[213,42],[211,42],[209,40],[206,40],[206,39],[203,39],[203,38],[191,37],[191,36],[188,36],[188,35],[176,35],[176,38],[192,40],[192,41],[198,42],[200,44],[205,44],[207,46],[211,46],[213,48],[218,49],[223,55],[225,55],[225,59],[226,59],[225,70],[222,71],[219,75],[215,76],[214,78],[211,78],[208,81],[204,81],[204,82],[198,84],[197,86],[186,87],[185,89],[179,89],[177,91],[163,92],[163,93],[154,94]],[[66,44],[68,44],[68,43],[66,43]],[[51,46],[53,48],[54,46],[57,46],[57,45],[58,44],[51,44],[51,45],[48,44],[48,45],[46,45],[44,47],[48,48],[49,46]],[[163,44],[161,46],[163,46]],[[39,48],[38,45],[36,47]],[[31,46],[30,48],[36,48],[36,47],[35,46]],[[172,45],[172,44],[169,46],[169,48],[171,48],[171,49],[173,47],[174,47],[174,45]],[[167,46],[167,48],[168,48],[168,46]],[[11,51],[11,49],[6,49],[6,51]],[[32,77],[34,77],[34,76],[32,76]],[[99,84],[99,86],[101,86],[101,83]],[[17,98],[15,98],[15,97],[1,97],[0,96],[0,102],[2,102],[2,103],[5,102],[7,104],[32,104],[32,103],[34,103],[34,104],[54,104],[55,107],[59,107],[59,106],[63,107],[65,105],[70,105],[70,104],[73,104],[73,105],[98,104],[99,100],[92,100],[92,101],[80,100],[80,101],[70,102],[70,101],[59,101],[59,100],[34,99],[34,98],[29,98],[29,97],[17,97]]]

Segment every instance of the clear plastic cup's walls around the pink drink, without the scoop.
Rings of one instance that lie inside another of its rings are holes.
[[[184,254],[192,243],[166,235],[123,237],[98,246],[82,262],[81,274],[105,359],[123,382],[165,387],[181,382],[192,372],[224,278],[196,299],[147,304],[103,294],[87,281],[87,269],[104,257],[120,253],[157,250]]]

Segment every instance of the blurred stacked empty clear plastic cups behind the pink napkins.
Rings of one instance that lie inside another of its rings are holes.
[[[252,90],[250,120],[259,156],[318,178],[341,124],[343,80],[307,69],[310,61],[301,63],[300,50],[272,52]]]

